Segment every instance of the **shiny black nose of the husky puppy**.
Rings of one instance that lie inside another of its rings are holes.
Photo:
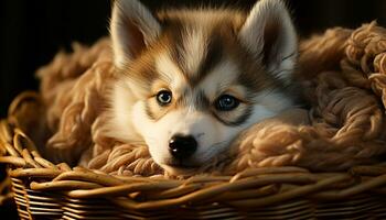
[[[191,135],[174,135],[169,141],[170,153],[179,160],[187,158],[197,148],[197,142]]]

